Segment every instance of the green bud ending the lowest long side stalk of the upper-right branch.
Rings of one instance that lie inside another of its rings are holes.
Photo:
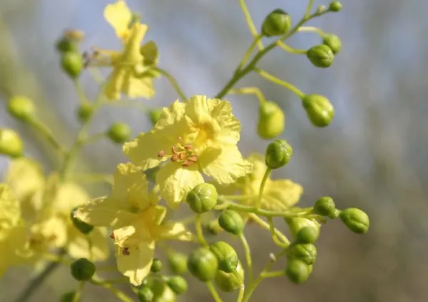
[[[335,116],[335,109],[330,101],[320,94],[308,94],[304,96],[302,105],[307,117],[314,126],[328,126]]]

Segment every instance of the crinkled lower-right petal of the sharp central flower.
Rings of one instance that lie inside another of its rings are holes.
[[[213,177],[220,185],[234,183],[253,171],[253,163],[243,159],[237,146],[206,149],[198,157],[198,164],[203,173]]]

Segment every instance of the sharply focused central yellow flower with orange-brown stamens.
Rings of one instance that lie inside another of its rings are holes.
[[[175,208],[204,173],[225,185],[250,173],[236,144],[240,122],[228,101],[193,96],[163,109],[152,131],[124,144],[123,151],[143,170],[165,162],[156,173],[161,196]]]

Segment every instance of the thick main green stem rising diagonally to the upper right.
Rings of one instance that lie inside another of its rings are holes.
[[[327,14],[328,10],[322,11],[320,13],[316,12],[315,14],[312,14],[310,16],[307,16],[306,18],[303,17],[290,31],[287,32],[284,36],[280,37],[280,39],[277,39],[277,41],[285,41],[285,39],[289,38],[295,32],[305,24],[310,19],[313,19],[317,16],[322,16],[323,14]],[[258,54],[256,54],[253,59],[250,61],[250,63],[245,66],[242,70],[239,69],[239,66],[235,69],[235,72],[233,73],[232,78],[225,84],[225,86],[218,92],[218,94],[215,95],[215,99],[221,99],[223,96],[228,94],[228,91],[244,76],[246,76],[250,71],[253,71],[256,64],[260,61],[260,59],[263,58],[269,51],[275,48],[277,46],[277,41],[272,42],[271,44],[267,45],[265,49],[262,49],[258,51]]]

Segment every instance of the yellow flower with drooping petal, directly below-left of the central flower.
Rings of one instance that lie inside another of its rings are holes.
[[[78,208],[75,217],[93,226],[113,227],[118,270],[133,285],[143,282],[151,268],[156,241],[188,241],[182,223],[163,223],[166,208],[148,193],[146,176],[132,163],[118,165],[109,196],[95,198]]]

